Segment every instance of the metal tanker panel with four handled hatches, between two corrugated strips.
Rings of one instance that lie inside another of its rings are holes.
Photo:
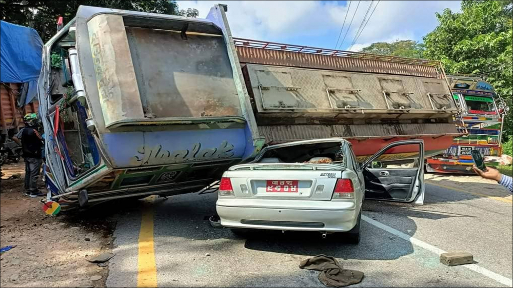
[[[447,118],[458,111],[445,79],[256,64],[246,64],[246,70],[261,117]]]

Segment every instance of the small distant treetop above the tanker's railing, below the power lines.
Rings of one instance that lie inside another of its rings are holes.
[[[421,58],[424,46],[413,40],[396,40],[392,43],[377,42],[362,49],[362,52],[409,58]]]

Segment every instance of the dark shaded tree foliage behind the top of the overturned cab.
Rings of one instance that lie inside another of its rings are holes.
[[[120,0],[46,0],[46,1],[11,1],[0,0],[2,4],[2,20],[17,25],[34,28],[46,42],[56,32],[57,17],[64,17],[64,24],[71,20],[78,6],[97,6],[140,12],[151,12],[187,17],[198,16],[198,10],[187,9],[179,11],[176,2],[158,1],[120,1]]]

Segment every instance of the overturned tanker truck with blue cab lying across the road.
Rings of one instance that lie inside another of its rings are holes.
[[[437,155],[465,133],[437,61],[235,39],[226,11],[78,9],[39,81],[48,200],[205,191],[273,143],[343,137],[363,161],[402,139]],[[418,153],[403,150],[385,160]]]

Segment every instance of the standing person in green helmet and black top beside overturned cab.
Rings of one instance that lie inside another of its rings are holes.
[[[20,130],[12,139],[22,146],[23,158],[25,159],[25,195],[30,197],[45,196],[37,189],[37,179],[43,163],[42,149],[43,138],[36,127],[37,115],[30,113],[23,117],[25,128]]]

